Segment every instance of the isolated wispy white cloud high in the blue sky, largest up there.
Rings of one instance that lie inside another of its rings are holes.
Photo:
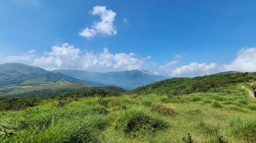
[[[94,16],[99,15],[100,21],[94,21],[92,28],[86,27],[79,33],[80,36],[90,38],[95,36],[97,33],[105,35],[116,35],[116,27],[113,25],[113,22],[116,17],[116,13],[112,10],[107,10],[106,6],[95,6],[90,13]]]

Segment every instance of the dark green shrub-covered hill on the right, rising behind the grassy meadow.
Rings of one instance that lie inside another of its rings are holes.
[[[195,78],[173,78],[138,87],[128,94],[172,94],[170,91],[177,90],[177,95],[197,92],[224,92],[224,89],[248,80],[256,81],[256,74],[229,73],[201,76]]]

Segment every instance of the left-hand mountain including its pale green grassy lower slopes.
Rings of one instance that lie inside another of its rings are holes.
[[[50,72],[26,64],[0,64],[0,97],[33,97],[60,95],[87,87],[106,87],[93,81],[83,81],[62,73]],[[120,89],[119,89],[120,90]],[[125,91],[121,89],[122,91]]]

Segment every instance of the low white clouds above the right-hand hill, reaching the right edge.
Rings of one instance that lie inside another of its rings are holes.
[[[169,76],[204,76],[223,71],[256,72],[256,48],[241,48],[230,64],[218,65],[217,63],[196,63],[177,67],[169,70]]]

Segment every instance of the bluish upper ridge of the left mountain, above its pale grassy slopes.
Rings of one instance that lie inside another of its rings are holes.
[[[93,81],[83,81],[80,79],[75,79],[73,77],[66,76],[62,73],[51,72],[44,70],[40,67],[29,66],[26,64],[0,64],[0,86],[23,84],[27,80],[29,80],[29,82],[33,85],[64,80],[70,83],[87,84],[92,87],[109,86],[107,84],[101,84]]]

